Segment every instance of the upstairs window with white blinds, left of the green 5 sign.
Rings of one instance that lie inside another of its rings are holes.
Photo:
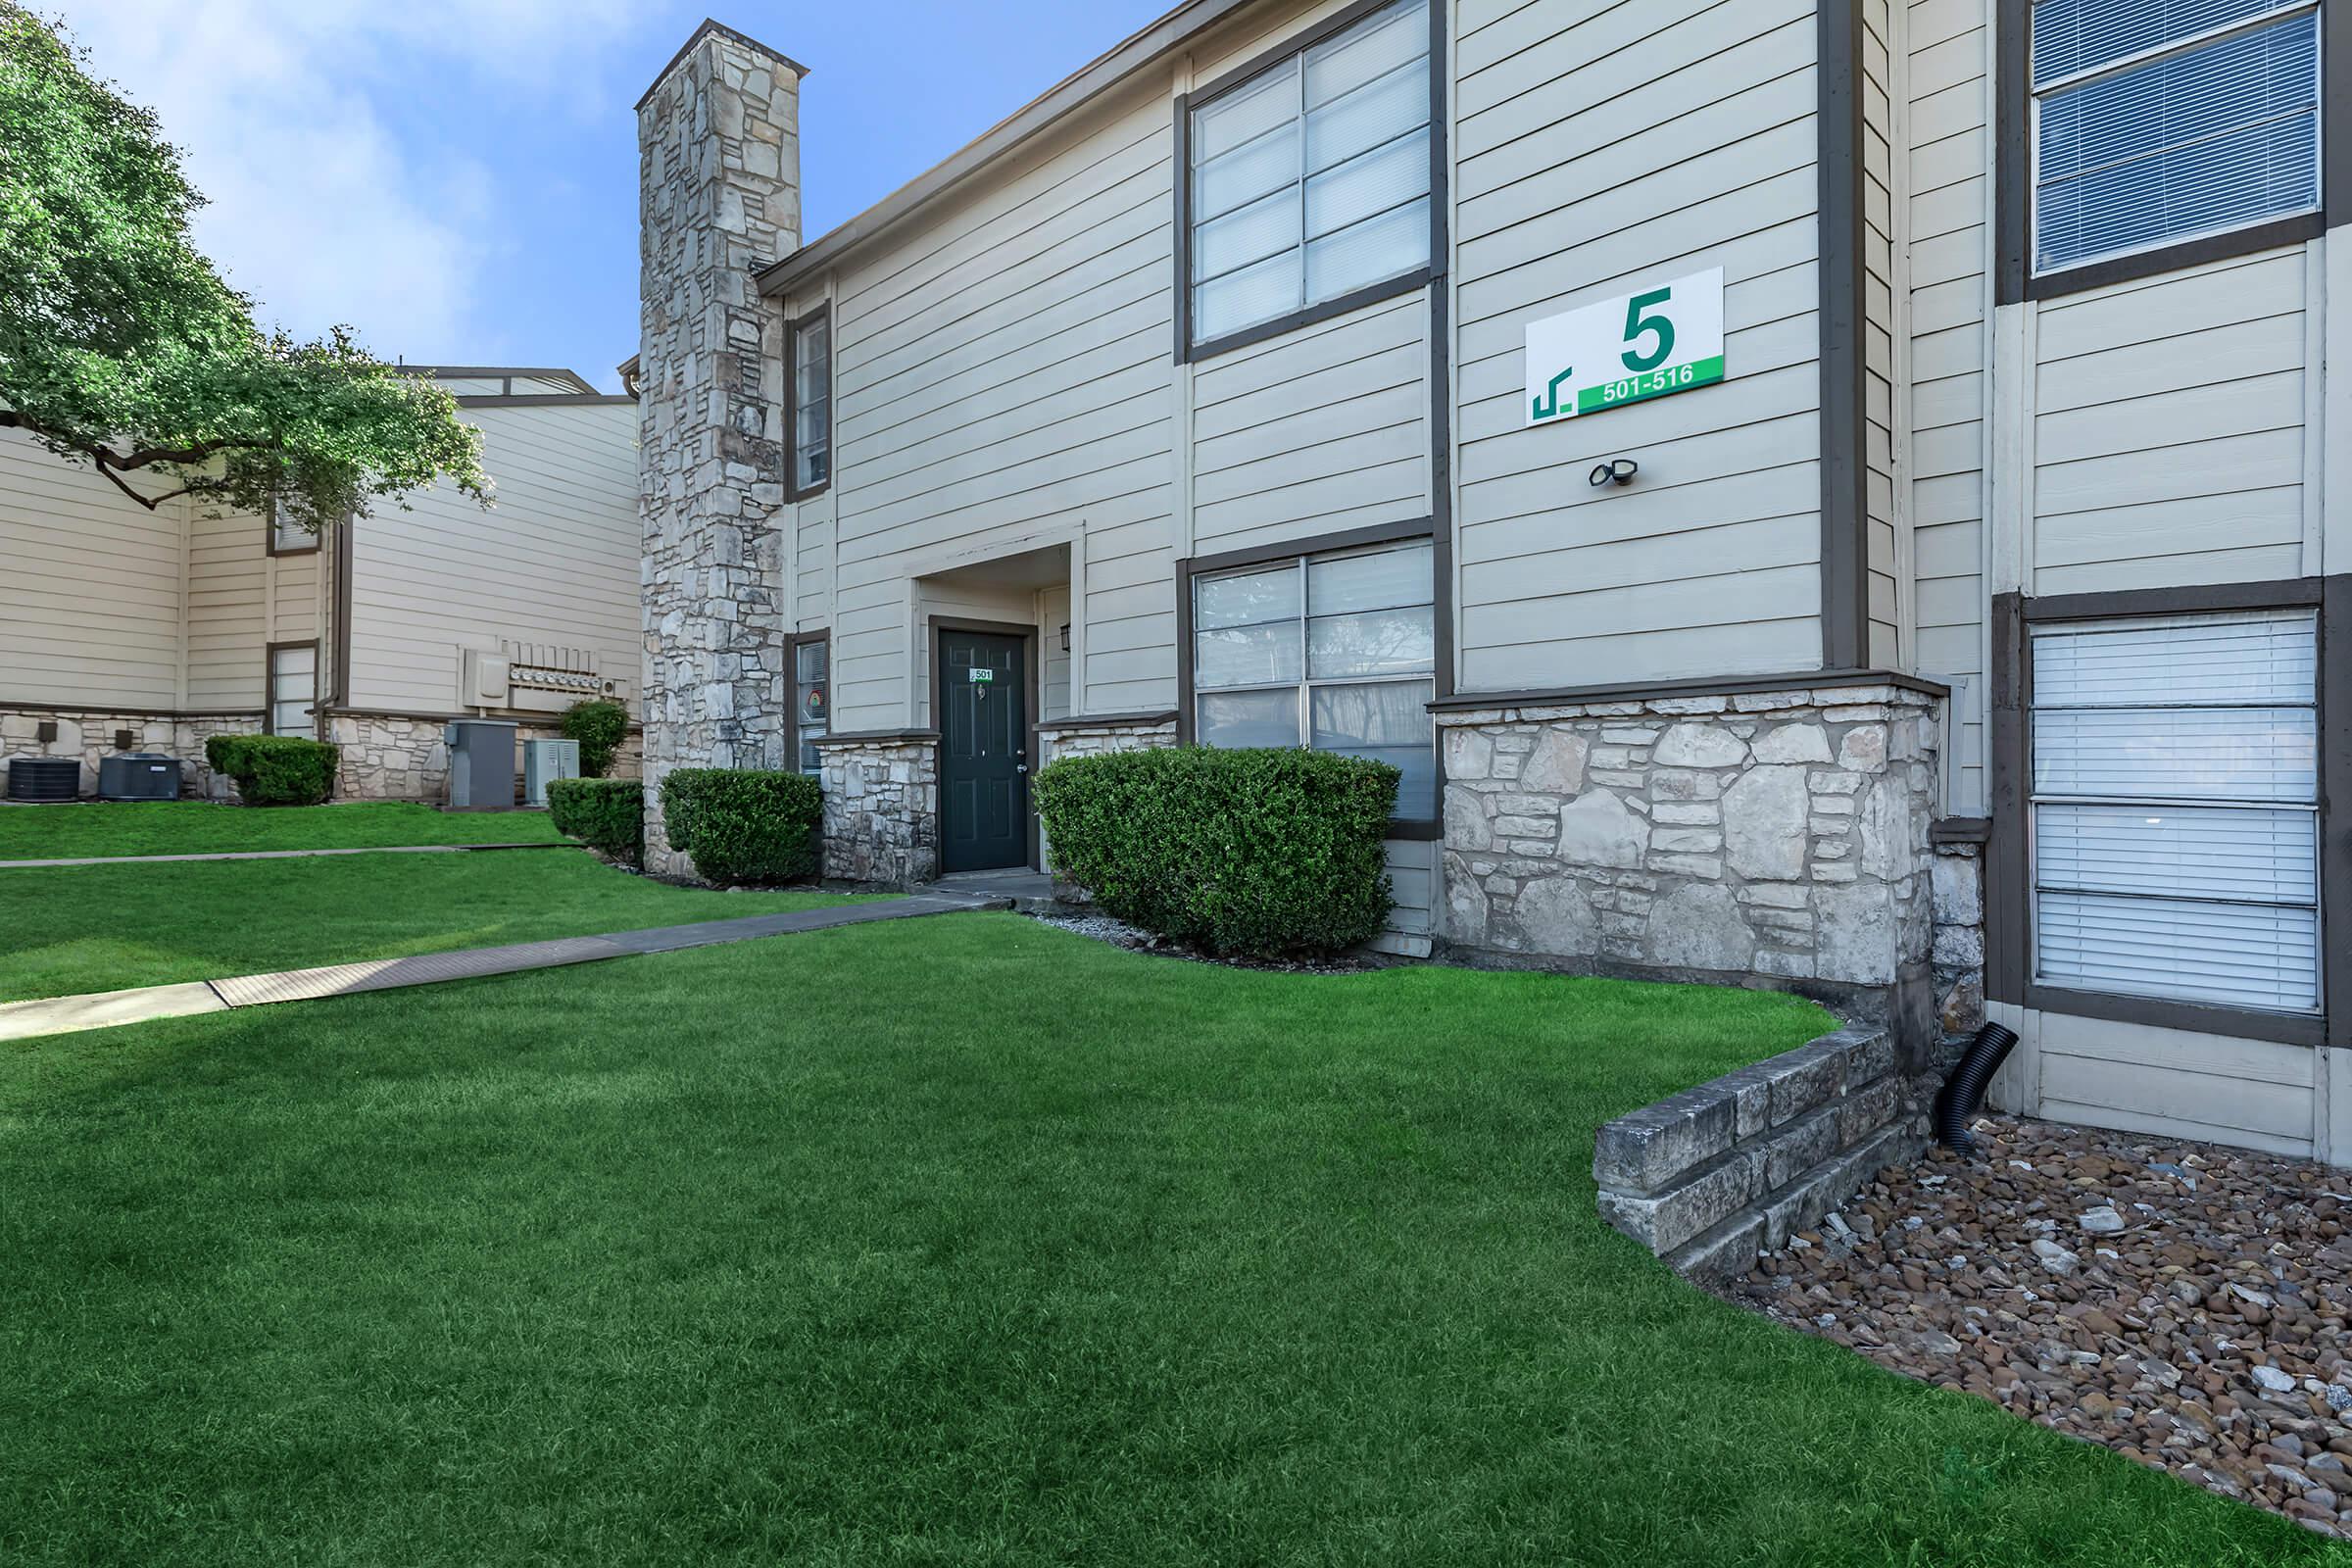
[[[1430,268],[1428,0],[1399,0],[1190,108],[1190,343]]]

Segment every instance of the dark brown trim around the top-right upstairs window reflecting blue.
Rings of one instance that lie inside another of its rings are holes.
[[[2138,277],[2178,273],[2180,268],[2251,256],[2284,244],[2303,244],[2326,233],[2328,223],[2352,216],[2352,115],[2333,113],[2328,85],[2352,82],[2352,16],[2347,7],[2326,0],[2319,7],[2319,212],[2270,219],[2218,235],[2197,235],[2129,256],[2084,261],[2058,273],[2032,270],[2032,0],[1999,0],[1994,71],[1999,87],[1994,148],[1994,216],[1999,226],[1999,263],[1994,268],[1994,303],[2016,306],[2039,299],[2065,299],[2084,289],[2105,289]]]

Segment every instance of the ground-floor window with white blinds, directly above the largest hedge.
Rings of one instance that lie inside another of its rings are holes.
[[[1192,738],[1374,757],[1397,816],[1437,813],[1428,543],[1303,555],[1192,578]]]

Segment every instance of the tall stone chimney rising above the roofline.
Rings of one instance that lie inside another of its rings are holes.
[[[637,101],[644,863],[670,769],[781,769],[783,327],[753,273],[800,247],[807,68],[706,21]]]

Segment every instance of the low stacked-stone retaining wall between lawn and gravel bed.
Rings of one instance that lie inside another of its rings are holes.
[[[1693,1279],[1740,1274],[1926,1147],[1922,1091],[1884,1030],[1823,1034],[1606,1124],[1602,1218]]]

